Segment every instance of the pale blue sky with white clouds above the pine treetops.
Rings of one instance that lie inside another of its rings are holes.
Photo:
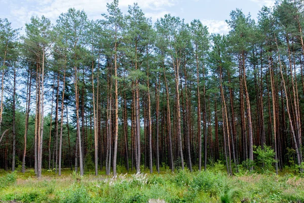
[[[53,23],[68,8],[84,10],[90,19],[101,18],[106,13],[106,3],[112,0],[0,0],[0,18],[8,18],[14,28],[24,27],[33,15],[45,15]],[[136,0],[120,0],[119,5],[127,14],[128,5]],[[184,18],[185,22],[200,19],[209,27],[209,32],[226,33],[225,23],[229,14],[236,8],[242,9],[256,19],[260,8],[273,6],[274,0],[137,0],[138,5],[147,17],[155,22],[158,18],[170,13]],[[21,31],[22,32],[22,31]]]

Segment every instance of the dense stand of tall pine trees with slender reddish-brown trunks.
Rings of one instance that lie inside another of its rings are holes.
[[[304,2],[277,1],[255,22],[236,9],[227,35],[170,14],[155,23],[118,1],[101,20],[69,9],[25,33],[0,19],[0,168],[148,167],[228,174],[272,153],[302,172]]]

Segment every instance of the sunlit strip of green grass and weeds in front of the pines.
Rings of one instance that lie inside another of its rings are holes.
[[[0,202],[304,202],[304,178],[293,173],[242,171],[232,177],[221,167],[160,174],[122,173],[116,179],[89,172],[81,177],[65,168],[62,176],[29,169],[0,171]]]

